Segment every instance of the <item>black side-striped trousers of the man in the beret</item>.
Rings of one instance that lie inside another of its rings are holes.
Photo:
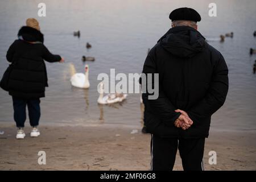
[[[204,142],[205,138],[174,139],[151,135],[151,170],[172,170],[179,148],[184,171],[203,171]]]

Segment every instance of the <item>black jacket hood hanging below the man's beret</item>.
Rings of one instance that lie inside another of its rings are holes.
[[[193,57],[207,47],[204,36],[195,28],[188,26],[171,28],[158,43],[177,57]]]

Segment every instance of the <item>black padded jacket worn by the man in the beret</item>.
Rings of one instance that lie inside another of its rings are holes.
[[[151,49],[143,73],[159,73],[158,99],[143,94],[147,131],[160,137],[208,137],[211,115],[228,93],[228,68],[220,52],[194,28],[174,27]],[[174,126],[176,109],[193,120],[189,129]]]

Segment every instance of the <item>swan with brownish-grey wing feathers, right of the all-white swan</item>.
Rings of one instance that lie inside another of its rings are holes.
[[[127,98],[127,94],[123,93],[111,93],[104,96],[104,83],[100,82],[98,84],[98,92],[100,96],[98,97],[98,104],[113,104],[116,102],[122,102]]]

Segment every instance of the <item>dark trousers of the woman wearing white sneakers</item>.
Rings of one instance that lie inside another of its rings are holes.
[[[31,126],[38,126],[40,119],[40,99],[22,100],[13,97],[14,121],[17,127],[24,127],[26,121],[26,105]]]

